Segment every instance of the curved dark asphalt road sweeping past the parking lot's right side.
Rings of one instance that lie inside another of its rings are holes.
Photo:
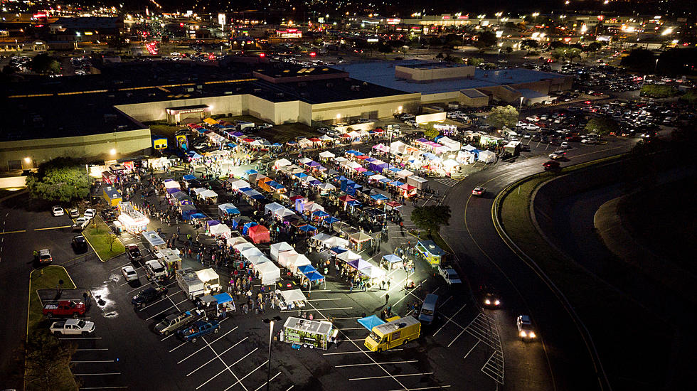
[[[621,154],[633,144],[632,140],[612,139],[605,146],[571,149],[569,161],[562,166]],[[445,197],[452,218],[442,235],[472,285],[493,285],[503,298],[503,309],[489,314],[500,325],[506,359],[504,389],[597,390],[590,356],[572,319],[548,286],[501,240],[491,218],[495,195],[509,183],[541,171],[546,160],[536,156],[514,164],[496,164],[457,183]],[[486,187],[486,195],[473,197],[475,186]],[[515,327],[519,314],[533,318],[540,343],[519,340]]]

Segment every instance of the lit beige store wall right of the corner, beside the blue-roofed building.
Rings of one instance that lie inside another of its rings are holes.
[[[416,112],[420,105],[420,93],[322,103],[312,105],[312,120],[343,120],[349,117],[363,117],[371,112],[376,112],[377,118],[388,118],[399,112],[400,107],[402,112]]]

